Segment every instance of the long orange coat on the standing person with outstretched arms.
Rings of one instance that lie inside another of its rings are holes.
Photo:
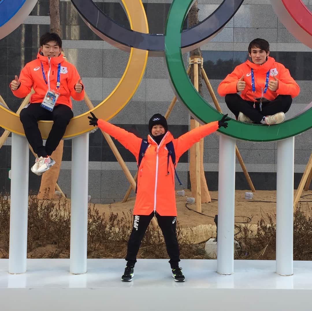
[[[142,139],[118,126],[99,119],[98,127],[115,137],[125,148],[134,154],[138,162]],[[179,157],[204,136],[218,129],[218,121],[195,128],[177,139],[167,132],[161,143],[157,145],[151,135],[148,135],[149,146],[142,158],[138,172],[138,190],[134,204],[134,215],[149,215],[153,211],[161,216],[176,216],[174,191],[174,166],[169,157],[169,174],[167,175],[168,151],[166,144],[173,142],[176,163]]]

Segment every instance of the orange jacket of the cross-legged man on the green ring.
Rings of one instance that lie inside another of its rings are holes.
[[[245,63],[235,67],[232,73],[228,74],[226,78],[221,81],[218,86],[218,93],[220,96],[236,93],[236,84],[238,80],[244,75],[244,81],[246,87],[241,91],[241,98],[246,101],[253,101],[254,94],[252,94],[251,88],[251,68],[254,70],[255,77],[255,97],[261,97],[261,87],[264,89],[266,83],[266,73],[270,70],[269,81],[274,80],[274,77],[278,79],[278,89],[276,92],[272,92],[267,89],[263,96],[269,100],[275,99],[278,95],[290,95],[295,97],[300,92],[299,85],[291,78],[289,70],[285,68],[283,64],[275,62],[273,57],[268,57],[268,60],[262,64],[257,65],[246,60]]]

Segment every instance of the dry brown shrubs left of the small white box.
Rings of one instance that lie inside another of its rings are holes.
[[[38,200],[37,195],[28,200],[28,258],[69,258],[70,203],[60,198]],[[108,216],[100,214],[95,205],[88,206],[88,258],[124,258],[132,230],[131,212]],[[0,258],[8,258],[10,203],[0,195]],[[192,245],[182,234],[177,223],[177,238],[181,258],[208,258],[202,245]],[[138,258],[168,258],[160,230],[152,224],[146,230]]]

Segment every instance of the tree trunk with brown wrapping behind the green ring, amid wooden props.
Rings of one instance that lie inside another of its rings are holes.
[[[199,23],[198,20],[198,7],[197,7],[197,1],[194,2],[192,8],[188,12],[188,26],[192,27],[194,25],[197,25]],[[202,53],[200,48],[197,48],[190,52],[191,59],[195,58],[202,58]],[[201,65],[198,64],[198,92],[201,96],[203,96],[202,93],[202,73],[200,70]],[[190,78],[192,83],[194,84],[194,71],[193,66],[191,66],[191,72],[190,72]],[[195,128],[195,120],[191,117],[191,123],[190,123],[190,129],[192,130]],[[203,166],[203,145],[204,140],[201,139],[199,141],[199,158],[200,158],[200,188],[201,188],[201,203],[207,203],[211,202],[211,197],[209,194],[206,178],[205,178],[205,172],[204,172],[204,166]],[[195,145],[193,145],[190,149],[190,182],[191,182],[191,191],[192,196],[196,198],[196,172],[195,172]]]

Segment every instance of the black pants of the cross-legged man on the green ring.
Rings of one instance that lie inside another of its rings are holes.
[[[256,108],[253,107],[253,101],[243,100],[237,93],[227,94],[225,96],[227,107],[234,113],[236,119],[241,111],[244,115],[249,117],[256,123],[260,123],[263,116],[274,115],[277,112],[286,113],[291,105],[292,98],[290,95],[278,95],[275,100],[262,103],[262,110],[260,111],[259,102],[256,102]]]

